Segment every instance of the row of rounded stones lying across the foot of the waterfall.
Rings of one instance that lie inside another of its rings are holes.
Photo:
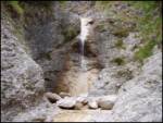
[[[87,96],[77,96],[72,97],[70,94],[61,93],[60,95],[53,93],[47,93],[45,95],[47,99],[55,103],[62,109],[102,109],[111,110],[117,99],[115,95],[100,96],[100,97],[87,97]]]

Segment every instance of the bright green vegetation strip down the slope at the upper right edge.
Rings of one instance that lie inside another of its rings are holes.
[[[156,1],[131,1],[134,8],[143,12],[143,16],[137,20],[137,30],[140,32],[143,46],[135,53],[136,60],[142,62],[152,54],[155,45],[162,41],[162,16]]]

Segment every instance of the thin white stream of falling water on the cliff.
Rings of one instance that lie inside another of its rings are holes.
[[[86,70],[86,60],[85,60],[85,41],[89,35],[89,29],[90,25],[88,24],[91,21],[89,17],[80,17],[80,51],[82,51],[82,57],[80,57],[80,66],[82,70]]]

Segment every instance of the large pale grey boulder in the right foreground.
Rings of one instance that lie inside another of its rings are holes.
[[[122,86],[113,112],[113,121],[162,121],[162,52],[146,60],[141,74]]]

